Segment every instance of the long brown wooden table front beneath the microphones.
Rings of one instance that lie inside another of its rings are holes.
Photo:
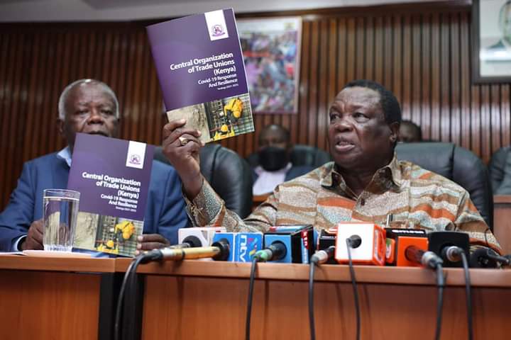
[[[128,264],[0,256],[0,339],[112,339],[119,278]],[[131,319],[136,331],[123,339],[244,339],[249,263],[150,263],[138,273],[141,310],[131,312],[140,317]],[[446,274],[441,339],[466,339],[463,271]],[[308,276],[304,265],[258,264],[251,339],[309,339]],[[356,277],[362,339],[434,338],[432,271],[356,266]],[[316,278],[317,339],[355,339],[348,267],[322,266]],[[475,339],[508,339],[511,271],[471,269],[471,280]]]

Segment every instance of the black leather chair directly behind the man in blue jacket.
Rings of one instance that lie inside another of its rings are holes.
[[[169,163],[156,147],[154,159]],[[248,163],[231,149],[208,143],[200,151],[202,176],[226,203],[226,207],[241,218],[247,217],[252,208],[252,171]]]

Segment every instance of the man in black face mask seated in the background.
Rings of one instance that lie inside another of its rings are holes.
[[[312,166],[291,163],[290,133],[280,125],[267,125],[259,134],[259,165],[253,169],[253,194],[270,193],[280,183],[312,171]]]

